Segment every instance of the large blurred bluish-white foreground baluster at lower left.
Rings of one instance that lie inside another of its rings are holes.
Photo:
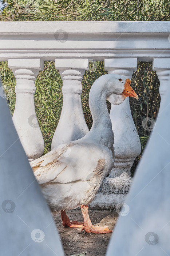
[[[50,210],[0,97],[0,254],[63,256]]]

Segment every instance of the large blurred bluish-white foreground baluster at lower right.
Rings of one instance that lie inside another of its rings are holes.
[[[170,76],[164,72],[170,72],[170,63],[166,64],[167,70],[162,65],[160,80],[168,85],[161,95],[162,112],[137,167],[126,204],[118,211],[121,216],[107,256],[170,255]]]

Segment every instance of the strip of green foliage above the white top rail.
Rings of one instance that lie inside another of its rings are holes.
[[[169,20],[170,17],[168,0],[9,0],[7,3],[1,20]]]

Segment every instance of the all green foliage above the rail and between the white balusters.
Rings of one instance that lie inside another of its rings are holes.
[[[0,0],[0,3],[5,3]],[[9,0],[0,11],[2,21],[24,20],[169,20],[168,0]],[[142,126],[142,120],[151,117],[155,120],[160,104],[159,81],[152,71],[152,63],[138,63],[131,85],[139,95],[139,101],[130,97],[131,112],[141,140],[142,151],[149,138],[150,131]],[[7,63],[0,63],[0,71],[9,108],[15,108],[15,77]],[[88,128],[92,117],[88,106],[91,85],[101,75],[106,74],[103,62],[90,64],[82,85],[82,106]],[[45,141],[45,153],[50,150],[62,109],[62,79],[53,62],[46,62],[44,70],[36,79],[35,108]],[[107,102],[108,110],[110,103]],[[135,160],[135,167],[141,155]]]

